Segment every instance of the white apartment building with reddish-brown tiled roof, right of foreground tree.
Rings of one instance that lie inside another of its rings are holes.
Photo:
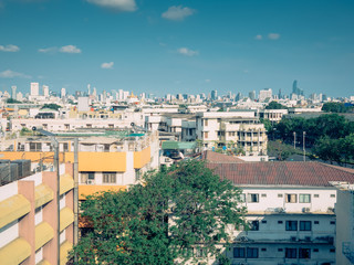
[[[335,263],[335,236],[351,230],[336,225],[337,190],[330,181],[353,183],[353,173],[317,162],[211,161],[207,167],[242,190],[248,210],[249,230],[229,227],[233,244],[225,255],[231,264],[345,264]]]

